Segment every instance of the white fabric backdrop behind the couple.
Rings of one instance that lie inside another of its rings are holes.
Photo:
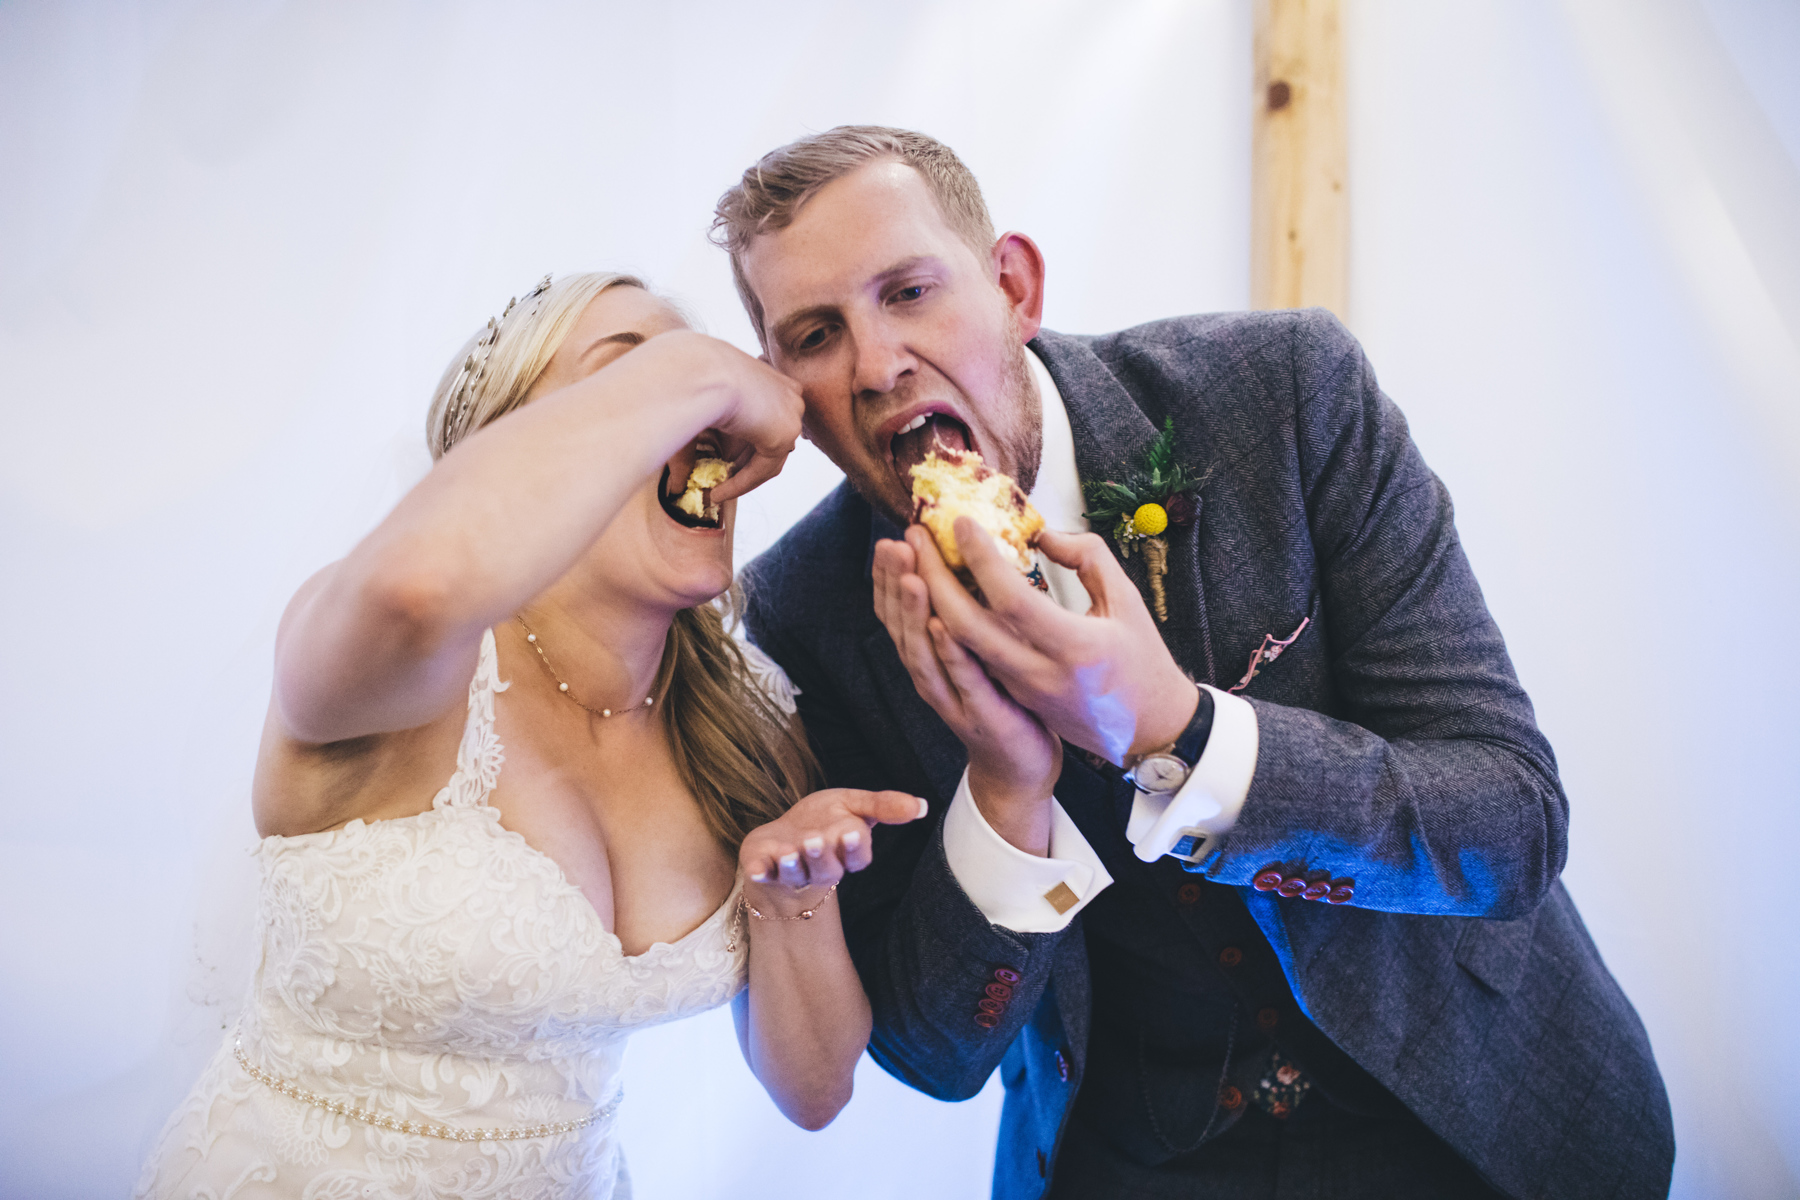
[[[1573,804],[1676,1195],[1800,1195],[1800,4],[1346,0],[1350,324]],[[713,198],[927,130],[1048,324],[1247,300],[1247,0],[0,5],[0,1195],[122,1195],[248,937],[275,617],[425,468],[463,338],[626,268],[749,347]],[[740,554],[835,482],[803,450]],[[628,1063],[644,1200],[985,1196],[997,1088],[787,1126],[722,1015]]]

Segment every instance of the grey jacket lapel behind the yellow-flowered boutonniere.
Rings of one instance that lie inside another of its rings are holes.
[[[1057,381],[1069,410],[1069,428],[1075,434],[1075,470],[1082,482],[1125,479],[1136,471],[1145,448],[1156,439],[1157,425],[1138,407],[1112,369],[1089,349],[1085,338],[1044,331],[1031,340],[1030,347],[1044,360],[1049,378]],[[1192,405],[1181,405],[1181,408],[1192,408]],[[1190,466],[1204,471],[1210,461],[1210,448],[1202,441],[1204,432],[1183,428],[1177,421],[1175,439]],[[1217,684],[1219,673],[1213,666],[1206,622],[1206,587],[1201,578],[1204,513],[1204,497],[1195,497],[1193,522],[1166,534],[1168,621],[1157,628],[1183,671],[1197,680]],[[1111,534],[1105,529],[1094,533]],[[1118,545],[1111,536],[1107,536],[1107,547],[1148,604],[1150,576],[1143,554],[1120,558]]]

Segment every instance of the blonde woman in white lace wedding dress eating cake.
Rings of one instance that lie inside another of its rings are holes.
[[[625,1038],[733,999],[781,1112],[837,1115],[869,1006],[832,891],[923,802],[815,792],[713,604],[799,425],[626,275],[545,277],[464,347],[434,470],[283,617],[261,959],[139,1196],[623,1198]]]

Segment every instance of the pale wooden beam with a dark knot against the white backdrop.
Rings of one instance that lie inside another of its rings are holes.
[[[1350,196],[1337,0],[1256,0],[1255,81],[1251,306],[1321,304],[1345,318]]]

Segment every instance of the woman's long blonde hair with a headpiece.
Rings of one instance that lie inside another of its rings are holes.
[[[648,291],[635,275],[589,272],[520,300],[499,322],[486,369],[472,372],[473,387],[461,389],[463,365],[486,329],[477,331],[450,360],[432,394],[425,417],[432,457],[443,457],[475,430],[524,405],[589,302],[619,286]],[[457,396],[464,390],[468,403]],[[727,630],[727,613],[743,610],[736,592],[733,585],[722,597],[724,608],[715,601],[675,613],[652,693],[659,698],[675,772],[700,806],[706,828],[731,851],[751,829],[785,813],[821,781],[819,763],[797,721],[761,689]]]

